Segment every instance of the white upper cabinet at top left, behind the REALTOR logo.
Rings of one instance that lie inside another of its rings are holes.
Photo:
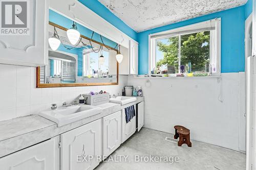
[[[0,33],[0,63],[25,66],[46,65],[48,61],[48,0],[25,0],[14,3],[7,1],[6,3],[4,9],[12,9],[14,6],[13,9],[16,9],[15,11],[22,17],[18,19],[16,12],[13,14],[12,10],[9,10],[9,14],[5,13],[5,20],[3,19],[0,26],[1,30],[6,30],[4,34]],[[3,28],[3,23],[9,23],[11,24],[9,27],[13,28]],[[15,30],[18,33],[15,33]]]

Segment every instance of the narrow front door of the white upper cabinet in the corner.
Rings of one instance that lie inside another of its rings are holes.
[[[139,44],[134,40],[130,40],[130,74],[138,75],[138,53]]]

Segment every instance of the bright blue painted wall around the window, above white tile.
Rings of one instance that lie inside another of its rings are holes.
[[[212,13],[138,33],[139,74],[148,73],[148,35],[221,17],[221,72],[244,71],[245,6]]]

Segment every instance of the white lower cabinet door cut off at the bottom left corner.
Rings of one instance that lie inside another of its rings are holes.
[[[58,140],[53,138],[1,158],[1,169],[59,170],[56,166],[59,154],[56,151],[58,151]]]

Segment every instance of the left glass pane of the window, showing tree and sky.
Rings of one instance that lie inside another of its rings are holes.
[[[179,72],[179,37],[156,40],[156,68],[154,74]]]

